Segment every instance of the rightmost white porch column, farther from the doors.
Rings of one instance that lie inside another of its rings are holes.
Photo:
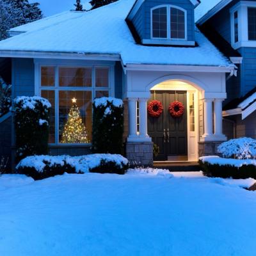
[[[223,99],[214,100],[214,137],[215,140],[226,140],[222,129],[222,102]]]

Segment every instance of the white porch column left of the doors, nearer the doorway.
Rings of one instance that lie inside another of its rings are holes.
[[[147,115],[147,100],[144,98],[139,99],[140,108],[140,139],[148,141],[151,139],[148,136],[148,115]]]

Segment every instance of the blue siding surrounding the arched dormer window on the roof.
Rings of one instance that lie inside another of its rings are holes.
[[[161,4],[173,4],[187,10],[188,40],[195,41],[195,13],[194,6],[189,0],[146,0],[132,20],[136,31],[143,39],[150,39],[151,8]]]

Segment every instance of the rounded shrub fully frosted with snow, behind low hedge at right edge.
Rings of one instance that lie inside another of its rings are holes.
[[[218,152],[226,158],[256,159],[256,140],[239,138],[225,141],[218,147]]]

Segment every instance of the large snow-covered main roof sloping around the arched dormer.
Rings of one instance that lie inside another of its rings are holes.
[[[196,29],[198,47],[138,45],[125,18],[135,0],[119,0],[90,12],[66,12],[20,26],[28,31],[0,42],[0,56],[26,52],[118,55],[127,64],[233,67]],[[5,55],[4,55],[5,54]]]

